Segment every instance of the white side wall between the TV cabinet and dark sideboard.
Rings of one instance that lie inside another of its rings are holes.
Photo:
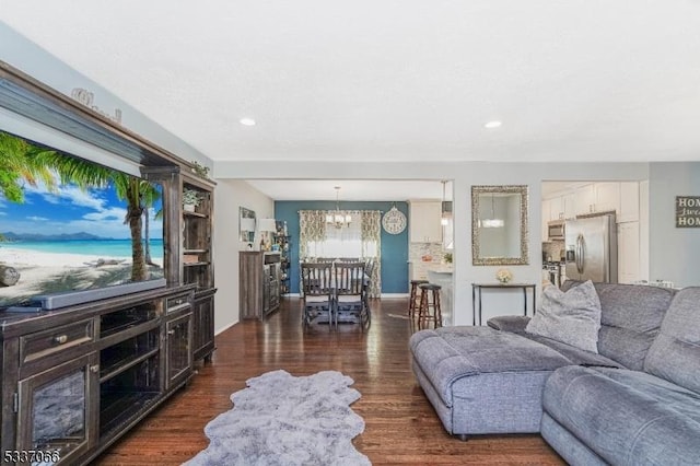
[[[275,201],[240,179],[220,179],[214,189],[213,256],[217,294],[214,333],[238,322],[238,252],[247,243],[238,241],[238,208],[255,211],[258,219],[275,217]],[[260,238],[256,234],[255,245]]]

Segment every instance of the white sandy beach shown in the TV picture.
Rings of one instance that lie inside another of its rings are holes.
[[[0,306],[36,294],[119,284],[129,281],[131,276],[131,257],[46,253],[8,246],[0,246],[0,265],[16,269],[20,280],[12,287],[0,286]],[[159,267],[149,266],[151,278],[163,277],[162,260],[154,263]]]

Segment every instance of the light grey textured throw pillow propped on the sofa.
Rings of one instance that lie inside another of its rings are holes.
[[[551,338],[585,351],[598,352],[600,300],[591,280],[567,292],[547,286],[542,303],[525,331]]]

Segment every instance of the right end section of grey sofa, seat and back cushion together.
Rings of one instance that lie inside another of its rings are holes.
[[[700,288],[674,298],[641,370],[567,366],[541,434],[571,464],[700,464]]]

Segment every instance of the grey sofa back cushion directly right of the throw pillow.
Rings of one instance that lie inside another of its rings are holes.
[[[581,283],[568,280],[562,290]],[[641,371],[676,291],[639,284],[594,283],[600,300],[598,352]]]

